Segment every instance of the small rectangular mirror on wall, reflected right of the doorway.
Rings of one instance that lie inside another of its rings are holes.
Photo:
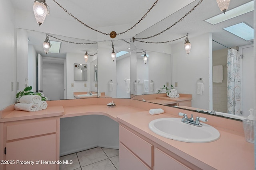
[[[87,64],[74,63],[74,80],[87,81]]]

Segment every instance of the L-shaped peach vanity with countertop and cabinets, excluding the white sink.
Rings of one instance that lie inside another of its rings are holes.
[[[106,106],[112,100],[116,107]],[[202,113],[132,99],[48,101],[46,110],[36,112],[13,108],[12,105],[0,111],[0,159],[5,160],[0,164],[1,170],[58,170],[60,119],[82,115],[104,115],[119,123],[121,170],[254,169],[254,144],[245,141],[242,121],[222,121],[221,117],[202,116]],[[152,108],[162,108],[165,113],[150,115],[148,111]],[[186,143],[161,137],[148,128],[154,119],[181,119],[179,112],[206,117],[207,124],[220,132],[220,139],[210,143]],[[22,165],[17,160],[35,162]],[[40,163],[35,164],[38,160]],[[56,162],[46,164],[41,162],[43,160]]]

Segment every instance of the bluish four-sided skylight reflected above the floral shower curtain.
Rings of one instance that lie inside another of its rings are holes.
[[[223,29],[246,41],[254,39],[254,29],[244,22]]]

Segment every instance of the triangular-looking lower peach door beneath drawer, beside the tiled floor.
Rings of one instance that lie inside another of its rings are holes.
[[[121,170],[150,170],[137,156],[124,147],[122,143],[119,146],[119,168]]]

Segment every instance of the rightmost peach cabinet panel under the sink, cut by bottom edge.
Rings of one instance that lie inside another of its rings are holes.
[[[156,170],[191,170],[178,160],[156,148],[154,150],[154,169]]]

